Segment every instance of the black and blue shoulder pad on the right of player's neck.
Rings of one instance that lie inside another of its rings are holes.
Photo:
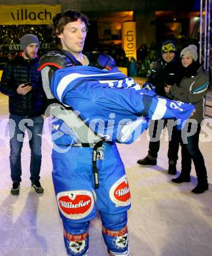
[[[89,58],[89,57],[88,57]],[[113,68],[116,67],[116,62],[115,60],[107,55],[106,53],[98,53],[96,51],[92,52],[91,60],[94,63],[90,63],[91,66],[95,66],[96,68],[101,68],[101,69],[107,69],[107,70],[112,70]]]

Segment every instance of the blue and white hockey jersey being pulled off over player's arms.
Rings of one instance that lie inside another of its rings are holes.
[[[118,68],[63,68],[54,73],[50,89],[52,95],[76,110],[97,134],[106,140],[126,144],[141,135],[149,119],[178,119],[181,129],[194,110],[191,104],[168,100],[141,89]],[[63,124],[65,134],[71,137],[68,143],[76,142],[75,135]],[[67,137],[64,143],[67,144]]]

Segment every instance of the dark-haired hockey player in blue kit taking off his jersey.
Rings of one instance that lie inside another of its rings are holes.
[[[68,255],[88,255],[88,227],[97,210],[109,255],[130,255],[130,188],[115,142],[135,140],[148,119],[186,119],[193,107],[141,90],[106,54],[82,53],[87,28],[80,12],[56,14],[59,49],[39,65],[54,116],[54,190]]]

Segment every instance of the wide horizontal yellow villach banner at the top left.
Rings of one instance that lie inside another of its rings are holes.
[[[0,5],[0,25],[50,24],[61,5]]]

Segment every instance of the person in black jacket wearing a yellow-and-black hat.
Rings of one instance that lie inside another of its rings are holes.
[[[166,85],[174,85],[179,83],[179,56],[177,56],[175,43],[173,41],[164,41],[162,43],[161,58],[154,62],[150,74],[147,77],[147,82],[151,83],[155,87],[155,91],[158,95],[168,97],[164,90]],[[152,121],[152,129],[150,129],[150,142],[149,151],[144,159],[137,160],[140,165],[156,165],[158,151],[160,149],[160,136],[162,129],[167,125],[168,120],[156,120]],[[163,122],[163,123],[162,123]],[[169,128],[169,127],[168,127]],[[168,129],[169,131],[169,129]],[[170,132],[170,131],[169,131]],[[179,141],[177,135],[174,134],[174,130],[169,135],[169,169],[170,175],[176,174],[176,164],[178,159]]]

